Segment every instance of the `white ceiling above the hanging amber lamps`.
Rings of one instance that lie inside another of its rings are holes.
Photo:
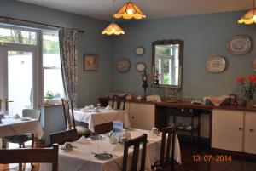
[[[111,20],[113,0],[18,0],[73,14]],[[125,0],[127,2],[127,0]],[[191,14],[218,13],[252,9],[253,0],[131,0],[143,9],[147,19],[158,19]],[[116,0],[119,9],[124,0]],[[116,11],[115,10],[115,11]]]

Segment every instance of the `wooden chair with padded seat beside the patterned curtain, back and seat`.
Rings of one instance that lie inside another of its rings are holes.
[[[69,104],[68,100],[65,99],[61,99],[62,101],[62,106],[63,106],[63,112],[64,112],[64,118],[65,118],[65,123],[66,123],[66,127],[67,130],[69,129],[77,129],[77,132],[79,134],[79,136],[90,136],[90,130],[89,128],[86,128],[84,126],[76,126],[75,124],[75,120],[73,117],[73,104],[72,102]],[[69,110],[71,108],[71,110]],[[70,113],[71,111],[71,113]]]

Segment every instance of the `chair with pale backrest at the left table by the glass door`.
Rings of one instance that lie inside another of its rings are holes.
[[[30,117],[40,120],[41,111],[37,109],[24,109],[22,117]],[[14,136],[3,137],[3,148],[6,148],[6,142],[19,144],[20,148],[25,148],[25,142],[32,140],[32,148],[34,147],[35,135],[34,134],[19,134]]]

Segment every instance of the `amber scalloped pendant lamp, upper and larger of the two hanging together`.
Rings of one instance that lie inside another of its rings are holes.
[[[135,18],[139,20],[142,18],[146,18],[146,15],[143,14],[142,9],[139,9],[137,7],[136,3],[131,3],[131,0],[129,0],[129,2],[125,3],[116,14],[113,14],[113,17],[117,19],[123,17],[124,19]]]

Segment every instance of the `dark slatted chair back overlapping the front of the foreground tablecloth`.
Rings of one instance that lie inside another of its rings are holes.
[[[127,159],[128,159],[128,149],[130,146],[133,146],[132,162],[131,162],[131,171],[137,171],[137,163],[140,151],[140,144],[143,144],[142,156],[141,156],[141,167],[140,171],[145,170],[145,159],[146,159],[146,147],[147,147],[147,134],[143,134],[140,137],[137,137],[132,140],[125,140],[124,148],[124,157],[123,157],[123,168],[122,171],[126,171],[127,168]]]

